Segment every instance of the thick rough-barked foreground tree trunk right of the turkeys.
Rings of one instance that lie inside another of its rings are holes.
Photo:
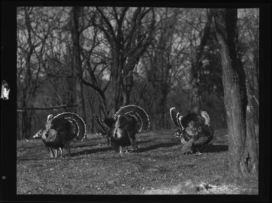
[[[258,175],[253,107],[246,75],[237,57],[237,9],[215,9],[216,35],[223,67],[224,105],[229,134],[229,176]],[[248,93],[248,95],[247,95]]]

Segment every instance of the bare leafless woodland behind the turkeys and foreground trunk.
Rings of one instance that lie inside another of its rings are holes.
[[[210,9],[18,7],[17,139],[64,111],[94,132],[93,114],[109,117],[128,104],[147,112],[151,130],[174,127],[171,107],[205,110],[214,128],[225,128],[213,21]],[[259,9],[238,9],[238,32],[258,124]]]

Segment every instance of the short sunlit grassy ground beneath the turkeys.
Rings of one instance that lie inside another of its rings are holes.
[[[18,141],[17,194],[182,194],[187,180],[209,185],[199,194],[258,194],[258,180],[227,177],[226,129],[215,130],[202,155],[180,154],[174,131],[140,133],[139,153],[123,155],[91,134],[56,159],[41,140]]]

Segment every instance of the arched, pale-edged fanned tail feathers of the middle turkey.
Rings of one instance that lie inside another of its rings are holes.
[[[134,113],[131,113],[131,112],[134,112]],[[118,112],[115,113],[115,115],[113,116],[114,120],[116,120],[118,115],[122,115],[122,114],[131,114],[136,116],[137,118],[139,117],[140,119],[138,120],[141,126],[139,128],[139,131],[141,131],[141,129],[143,130],[149,129],[149,125],[150,125],[149,116],[141,107],[138,107],[136,105],[124,106]]]

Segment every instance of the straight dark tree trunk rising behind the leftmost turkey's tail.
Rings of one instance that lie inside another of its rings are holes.
[[[79,25],[77,21],[78,13],[80,12],[79,8],[73,7],[71,10],[71,34],[73,42],[73,67],[76,69],[76,79],[75,79],[75,95],[76,103],[79,105],[78,114],[86,122],[86,113],[85,113],[85,104],[83,96],[83,82],[82,82],[82,65],[81,65],[81,56],[80,56],[80,34],[79,34]]]

